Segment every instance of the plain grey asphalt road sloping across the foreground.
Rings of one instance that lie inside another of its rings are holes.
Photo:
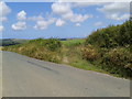
[[[129,97],[130,80],[2,52],[2,96]]]

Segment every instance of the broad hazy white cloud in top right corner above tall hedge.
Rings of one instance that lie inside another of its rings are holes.
[[[129,2],[113,2],[97,8],[98,11],[106,14],[106,18],[121,21],[130,18],[130,3]]]

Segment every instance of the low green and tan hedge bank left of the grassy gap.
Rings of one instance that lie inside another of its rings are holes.
[[[6,46],[4,51],[20,53],[33,58],[48,61],[54,63],[61,63],[59,48],[62,44],[56,38],[50,40],[31,40],[26,43],[13,46]]]

